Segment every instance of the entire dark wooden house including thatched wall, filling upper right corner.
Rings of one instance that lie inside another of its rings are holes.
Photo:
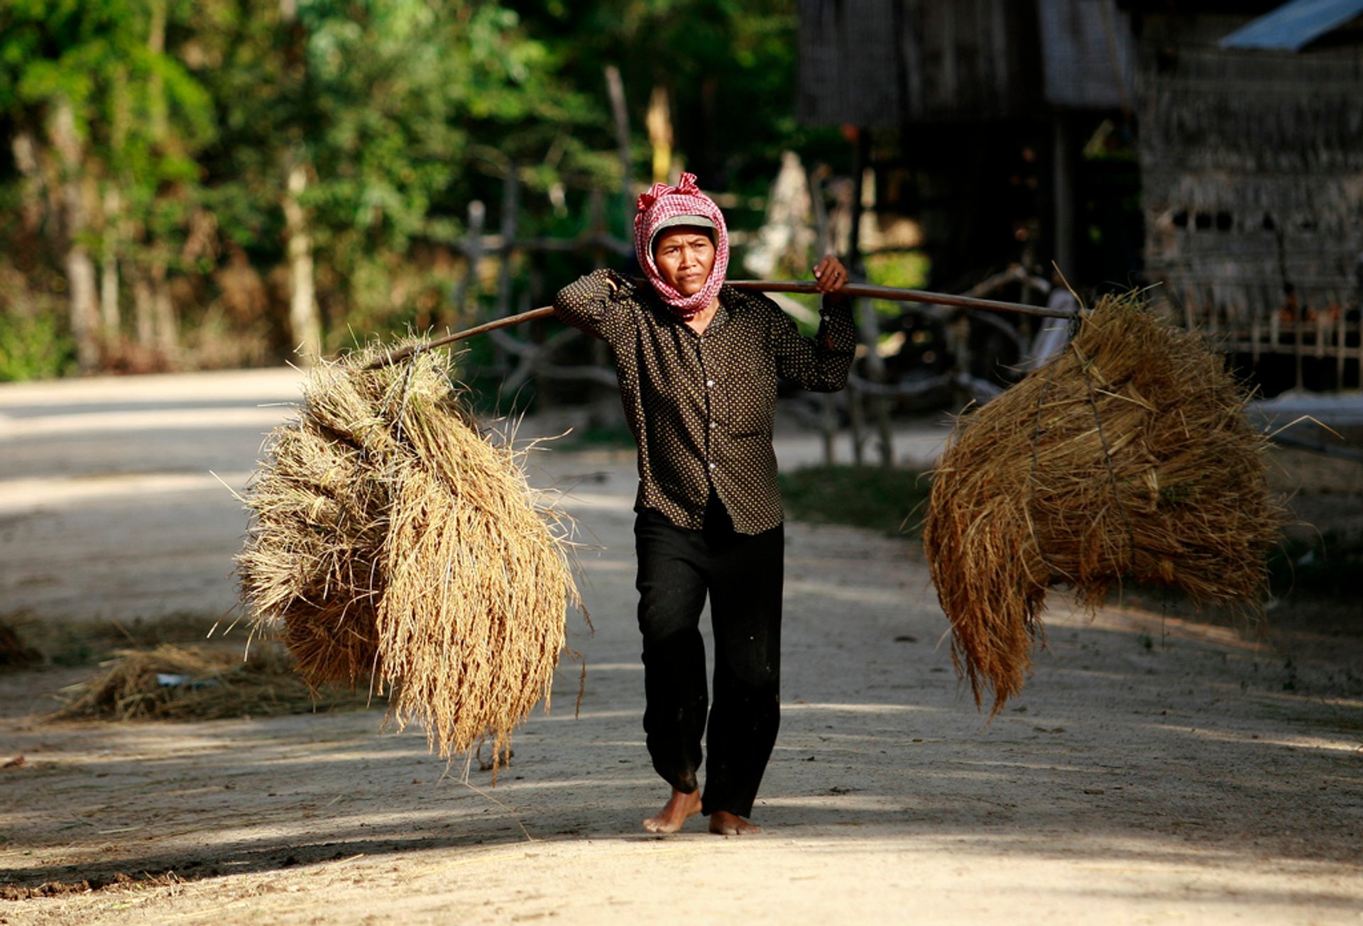
[[[800,120],[893,133],[876,199],[921,217],[935,285],[977,279],[1011,225],[1024,260],[1157,285],[1270,392],[1359,387],[1363,0],[800,0]],[[1126,185],[1079,155],[1104,120],[1134,127]]]

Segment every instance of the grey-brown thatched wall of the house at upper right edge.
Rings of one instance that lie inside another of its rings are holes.
[[[1363,31],[1300,53],[1214,46],[1246,20],[1141,23],[1146,270],[1232,347],[1298,351],[1276,330],[1311,320],[1313,353],[1356,355]]]

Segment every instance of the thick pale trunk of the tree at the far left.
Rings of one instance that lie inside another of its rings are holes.
[[[82,370],[99,365],[99,310],[97,302],[94,260],[85,244],[89,225],[86,211],[85,150],[76,135],[71,103],[59,99],[48,125],[52,146],[61,158],[61,225],[63,267],[67,274],[70,298],[71,338],[76,342],[76,362]]]

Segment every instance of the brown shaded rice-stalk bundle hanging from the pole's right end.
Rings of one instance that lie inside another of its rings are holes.
[[[1066,351],[957,424],[923,545],[979,705],[1021,690],[1051,586],[1089,607],[1123,577],[1195,603],[1266,594],[1283,517],[1268,440],[1195,334],[1105,297]]]

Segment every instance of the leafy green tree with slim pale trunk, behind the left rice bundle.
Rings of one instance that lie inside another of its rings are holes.
[[[590,101],[497,4],[217,0],[199,31],[222,132],[210,199],[241,246],[284,238],[293,343],[304,276],[335,345],[402,315],[424,286],[414,251],[454,245],[484,180],[517,170],[548,195],[596,169],[574,135]]]

